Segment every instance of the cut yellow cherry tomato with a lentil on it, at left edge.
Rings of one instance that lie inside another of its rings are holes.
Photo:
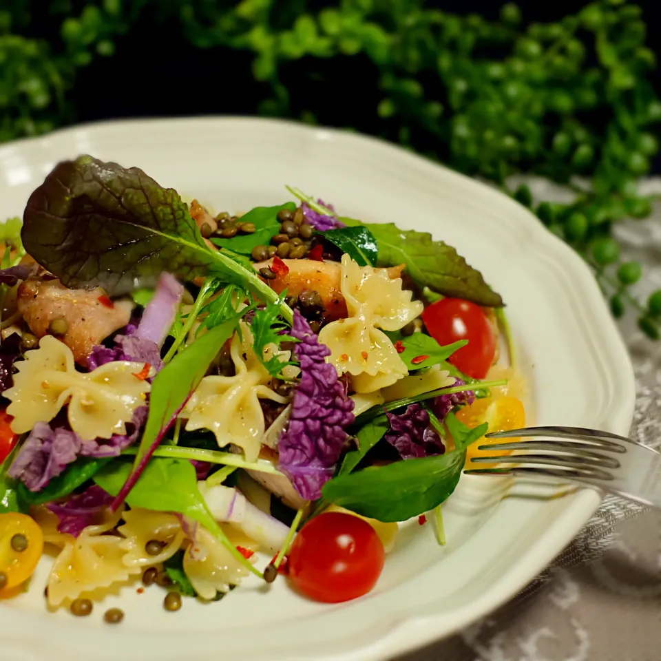
[[[32,576],[43,553],[43,532],[27,514],[0,514],[0,596]]]

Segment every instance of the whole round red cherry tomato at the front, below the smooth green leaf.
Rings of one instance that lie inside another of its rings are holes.
[[[342,512],[315,516],[297,534],[288,557],[296,589],[336,603],[367,594],[384,568],[386,552],[375,529]]]

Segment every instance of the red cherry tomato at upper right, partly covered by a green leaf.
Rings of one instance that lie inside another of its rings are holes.
[[[479,305],[443,298],[427,306],[421,316],[429,334],[441,345],[468,339],[468,344],[448,359],[457,369],[473,379],[487,375],[496,355],[496,338]]]

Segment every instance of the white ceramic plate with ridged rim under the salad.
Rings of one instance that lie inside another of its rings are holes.
[[[587,266],[503,194],[371,138],[235,118],[74,127],[0,146],[0,218],[21,215],[55,163],[81,153],[137,165],[160,184],[216,209],[286,199],[284,185],[333,202],[342,215],[431,231],[456,246],[503,294],[540,424],[627,434],[633,373]],[[498,483],[498,486],[494,486]],[[431,525],[405,527],[366,598],[328,606],[283,580],[246,583],[211,605],[162,609],[163,593],[123,587],[92,616],[48,613],[43,562],[28,594],[0,605],[6,661],[384,659],[470,624],[501,605],[560,552],[600,502],[505,499],[503,481],[464,476],[445,505],[448,545]],[[103,624],[120,606],[120,627]]]

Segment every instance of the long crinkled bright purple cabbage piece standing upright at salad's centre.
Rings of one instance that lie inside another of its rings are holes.
[[[335,470],[347,439],[345,429],[353,423],[353,400],[326,363],[330,349],[299,311],[294,311],[292,337],[300,340],[294,353],[301,364],[301,382],[296,389],[287,429],[278,439],[278,468],[288,476],[306,500],[319,498],[322,485]]]

